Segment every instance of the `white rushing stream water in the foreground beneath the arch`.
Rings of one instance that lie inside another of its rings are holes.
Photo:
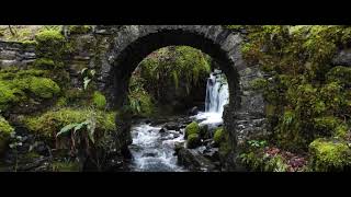
[[[149,124],[135,125],[132,128],[133,143],[129,150],[133,155],[133,171],[170,172],[184,171],[177,164],[174,143],[183,141],[183,134],[169,130],[160,134],[161,127]]]

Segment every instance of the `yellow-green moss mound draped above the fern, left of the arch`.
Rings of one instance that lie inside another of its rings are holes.
[[[38,116],[26,117],[23,123],[32,132],[54,139],[55,135],[69,124],[82,123],[93,116],[97,119],[97,132],[115,130],[115,113],[88,108],[60,108]]]

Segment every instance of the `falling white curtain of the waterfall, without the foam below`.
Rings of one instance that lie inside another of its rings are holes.
[[[228,83],[225,76],[219,70],[215,70],[207,79],[205,112],[222,115],[228,99]]]

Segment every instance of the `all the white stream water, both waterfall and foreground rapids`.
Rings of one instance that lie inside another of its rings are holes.
[[[188,116],[200,126],[216,128],[223,124],[224,105],[228,103],[228,84],[224,74],[215,70],[207,79],[205,112]],[[162,129],[163,124],[136,123],[132,126],[133,143],[131,171],[134,172],[184,172],[184,166],[178,163],[176,143],[184,142],[184,128]]]

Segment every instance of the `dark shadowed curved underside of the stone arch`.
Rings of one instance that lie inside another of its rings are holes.
[[[113,104],[121,107],[126,104],[126,90],[133,71],[152,51],[167,46],[190,46],[196,48],[214,58],[219,69],[225,73],[229,86],[229,104],[238,107],[238,72],[234,62],[228,58],[228,54],[220,48],[219,44],[214,43],[203,35],[184,32],[180,30],[161,31],[151,33],[137,38],[124,48],[113,60]],[[233,99],[231,99],[233,97]]]

